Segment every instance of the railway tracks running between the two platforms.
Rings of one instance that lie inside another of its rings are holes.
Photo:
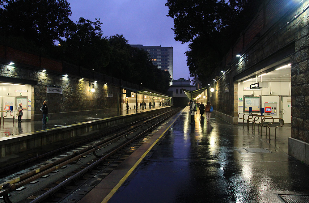
[[[15,172],[2,179],[0,197],[5,203],[76,202],[70,195],[83,197],[179,110],[97,133],[82,146]]]

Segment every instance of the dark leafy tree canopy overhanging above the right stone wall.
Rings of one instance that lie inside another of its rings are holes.
[[[187,65],[191,76],[205,82],[263,0],[167,0],[174,19],[175,40],[190,42]]]

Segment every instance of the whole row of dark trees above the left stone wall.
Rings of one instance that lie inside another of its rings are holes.
[[[122,35],[103,36],[100,19],[74,23],[70,15],[67,0],[0,0],[0,43],[167,92],[170,74],[147,52]]]

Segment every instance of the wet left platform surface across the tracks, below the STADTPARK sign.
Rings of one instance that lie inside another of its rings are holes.
[[[164,108],[164,107],[160,107]],[[158,108],[152,108],[151,110],[158,109]],[[145,112],[145,111],[151,111],[149,108],[146,109],[139,109],[139,112]],[[136,109],[128,110],[128,111],[122,111],[119,112],[119,115],[128,115],[128,114],[134,114],[136,113]],[[66,125],[72,125],[77,123],[83,123],[87,121],[93,121],[103,118],[110,118],[113,116],[117,116],[117,112],[110,112],[110,113],[102,113],[102,114],[91,114],[91,115],[85,115],[85,116],[74,116],[74,117],[66,117],[66,118],[60,118],[60,119],[49,119],[47,122],[47,125],[42,125],[42,120],[40,121],[30,121],[23,119],[21,123],[18,123],[16,121],[13,122],[13,119],[11,118],[5,118],[4,122],[1,120],[0,124],[0,141],[2,137],[11,137],[14,135],[20,135],[24,133],[32,133],[37,132],[41,130],[47,130],[47,129],[53,129],[61,126]]]

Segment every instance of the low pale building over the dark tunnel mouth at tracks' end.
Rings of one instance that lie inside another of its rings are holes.
[[[171,85],[168,91],[173,97],[173,104],[175,106],[186,106],[188,104],[188,97],[184,90],[194,91],[196,89],[197,86],[191,85],[191,80],[179,78],[178,80],[173,80],[173,85]]]

